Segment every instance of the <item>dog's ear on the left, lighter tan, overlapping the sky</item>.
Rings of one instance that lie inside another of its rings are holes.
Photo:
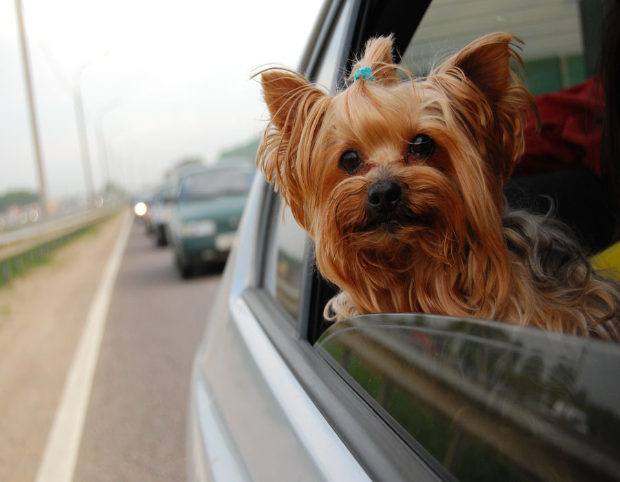
[[[311,154],[331,97],[290,70],[262,72],[261,83],[271,123],[258,149],[257,163],[296,220],[308,229],[309,207],[316,197]]]

